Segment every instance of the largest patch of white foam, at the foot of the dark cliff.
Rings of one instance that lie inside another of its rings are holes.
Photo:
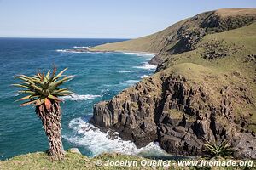
[[[93,156],[103,152],[118,152],[126,155],[145,155],[146,152],[152,152],[158,153],[158,155],[166,155],[166,152],[154,143],[137,149],[137,146],[131,141],[124,141],[118,136],[110,138],[108,133],[101,132],[99,128],[84,122],[81,118],[73,119],[69,122],[68,127],[73,129],[74,134],[64,135],[63,138],[79,147],[85,147],[92,152]]]

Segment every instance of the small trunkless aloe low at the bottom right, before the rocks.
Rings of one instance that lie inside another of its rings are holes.
[[[218,141],[215,141],[213,143],[210,143],[207,139],[205,139],[206,143],[204,146],[207,148],[207,153],[211,157],[227,157],[232,156],[234,150],[231,147],[231,143],[229,140],[224,139],[220,143]]]

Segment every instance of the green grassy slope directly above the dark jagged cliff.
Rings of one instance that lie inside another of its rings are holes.
[[[220,43],[221,48],[229,50],[230,56],[218,59],[203,59],[202,54],[206,51],[205,44]],[[216,102],[220,95],[218,90],[224,86],[230,86],[236,103],[234,113],[237,119],[247,116],[252,120],[247,128],[256,131],[256,108],[248,105],[242,99],[244,94],[253,96],[255,103],[256,84],[256,61],[245,62],[249,54],[256,54],[256,23],[235,30],[210,34],[203,37],[198,47],[183,54],[162,56],[166,59],[163,71],[167,74],[177,74],[188,77],[189,82],[201,83],[202,86],[212,92],[211,97]],[[235,54],[232,52],[236,51]],[[234,73],[238,73],[235,76]],[[154,77],[154,76],[153,76]],[[236,88],[247,87],[247,93]],[[219,96],[218,96],[219,95]],[[214,102],[214,101],[212,101]],[[252,114],[253,116],[249,116]]]

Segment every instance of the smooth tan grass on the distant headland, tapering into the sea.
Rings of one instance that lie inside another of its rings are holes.
[[[210,14],[216,14],[220,17],[228,16],[255,16],[256,8],[224,8],[216,11],[209,11],[197,14],[201,19],[207,19]],[[156,32],[146,37],[139,37],[125,42],[106,43],[90,48],[91,51],[138,51],[159,53],[163,48],[171,48],[177,42],[175,35],[181,27],[189,27],[191,30],[198,30],[200,20],[195,21],[193,17],[181,20],[163,31]],[[172,40],[169,38],[174,37]],[[165,47],[168,44],[168,47]]]

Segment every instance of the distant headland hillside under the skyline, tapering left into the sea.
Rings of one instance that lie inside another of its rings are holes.
[[[197,14],[194,17],[177,22],[163,31],[146,37],[140,37],[125,42],[107,43],[90,48],[92,51],[139,51],[159,53],[161,50],[172,48],[182,37],[182,33],[189,31],[202,31],[209,27],[207,33],[212,31],[227,31],[251,23],[255,20],[255,8],[219,9]],[[236,20],[230,25],[227,20]],[[227,22],[226,22],[227,21]],[[224,23],[226,22],[226,23]],[[204,32],[199,32],[205,34]]]

